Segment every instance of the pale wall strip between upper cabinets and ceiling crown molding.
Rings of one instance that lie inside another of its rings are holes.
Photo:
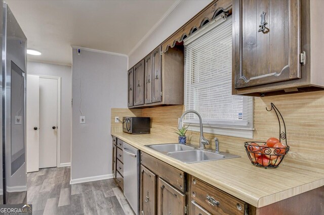
[[[149,35],[148,38],[129,55],[129,68],[148,55],[161,42],[177,31],[212,0],[182,1]]]

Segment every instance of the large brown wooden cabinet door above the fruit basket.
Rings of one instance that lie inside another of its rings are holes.
[[[235,88],[301,78],[300,0],[234,0]]]

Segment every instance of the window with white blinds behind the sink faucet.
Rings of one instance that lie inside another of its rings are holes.
[[[253,98],[232,95],[232,19],[221,14],[184,40],[185,110],[203,118],[204,131],[253,137]],[[198,130],[198,117],[185,123]]]

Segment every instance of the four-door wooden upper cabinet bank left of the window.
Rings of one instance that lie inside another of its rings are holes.
[[[183,104],[183,46],[166,52],[158,46],[133,69],[134,103],[129,108]]]

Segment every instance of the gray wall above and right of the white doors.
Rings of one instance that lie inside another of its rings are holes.
[[[70,66],[27,62],[27,74],[61,77],[61,164],[71,160],[71,83]]]

